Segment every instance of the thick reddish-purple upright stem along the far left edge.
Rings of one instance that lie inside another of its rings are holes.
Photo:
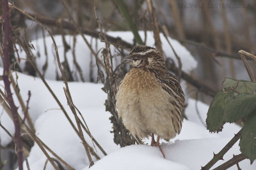
[[[20,137],[20,122],[18,118],[18,111],[17,107],[14,104],[13,97],[12,97],[12,91],[11,91],[11,82],[9,80],[9,74],[10,74],[10,42],[11,42],[11,26],[10,26],[10,16],[9,16],[9,6],[8,1],[3,0],[3,32],[4,32],[4,42],[3,42],[3,54],[4,54],[4,60],[3,60],[3,81],[4,81],[4,88],[6,90],[7,94],[7,100],[8,104],[10,105],[10,109],[12,111],[12,117],[13,117],[13,124],[15,127],[15,152],[17,154],[18,159],[18,167],[19,170],[23,169],[23,152],[22,152],[22,141]]]

